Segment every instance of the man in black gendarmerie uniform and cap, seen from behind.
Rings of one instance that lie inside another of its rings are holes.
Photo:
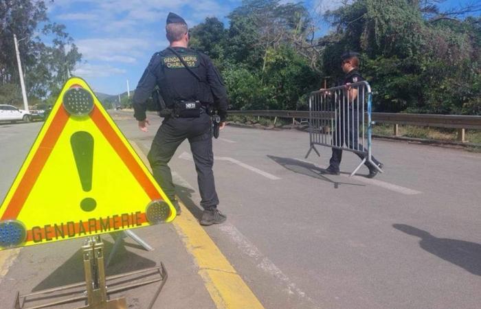
[[[220,128],[227,117],[227,93],[219,72],[205,54],[188,48],[189,33],[186,21],[170,12],[166,22],[170,45],[150,59],[133,96],[134,117],[140,130],[146,131],[146,100],[159,87],[166,115],[154,137],[148,161],[155,180],[180,214],[175,201],[175,188],[168,162],[183,140],[188,139],[197,170],[203,214],[201,225],[222,223],[227,218],[218,209],[219,198],[214,185],[212,165],[211,109],[221,117]]]

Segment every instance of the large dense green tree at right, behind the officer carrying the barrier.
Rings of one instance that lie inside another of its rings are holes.
[[[414,0],[358,0],[327,12],[336,28],[320,40],[322,68],[339,76],[340,54],[355,50],[378,92],[379,111],[476,111],[466,106],[476,105],[480,93],[464,85],[480,74],[479,18],[473,23],[435,16],[446,14],[434,1]]]

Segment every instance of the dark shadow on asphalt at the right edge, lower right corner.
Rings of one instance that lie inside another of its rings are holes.
[[[465,268],[466,271],[473,275],[481,275],[481,244],[457,239],[437,238],[427,231],[411,227],[410,225],[395,224],[392,227],[421,238],[419,246],[425,251]]]

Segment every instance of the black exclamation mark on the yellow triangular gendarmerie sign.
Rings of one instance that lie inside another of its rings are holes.
[[[85,192],[92,190],[93,171],[93,137],[85,131],[78,131],[70,137],[70,144],[74,152],[80,183]],[[96,209],[97,202],[93,198],[84,198],[80,202],[83,211]]]

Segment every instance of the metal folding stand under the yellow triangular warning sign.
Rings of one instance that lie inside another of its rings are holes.
[[[150,304],[146,307],[150,309],[153,308],[161,289],[167,281],[167,271],[162,263],[157,267],[105,277],[104,243],[100,239],[100,236],[87,238],[85,244],[82,246],[82,257],[85,270],[85,282],[41,290],[27,295],[16,293],[13,308],[55,308],[56,306],[63,304],[85,300],[87,305],[77,307],[76,309],[127,309],[128,307],[125,297],[109,299],[109,294],[160,282],[159,288],[157,288],[155,295],[150,300]],[[125,285],[126,282],[129,284]],[[107,285],[109,285],[109,288],[107,288]],[[54,293],[58,293],[58,295],[52,295]],[[77,294],[77,296],[65,298],[72,294]],[[62,299],[45,304],[45,300],[50,298]],[[41,304],[36,304],[31,307],[25,306],[25,304],[35,301],[38,301]]]

